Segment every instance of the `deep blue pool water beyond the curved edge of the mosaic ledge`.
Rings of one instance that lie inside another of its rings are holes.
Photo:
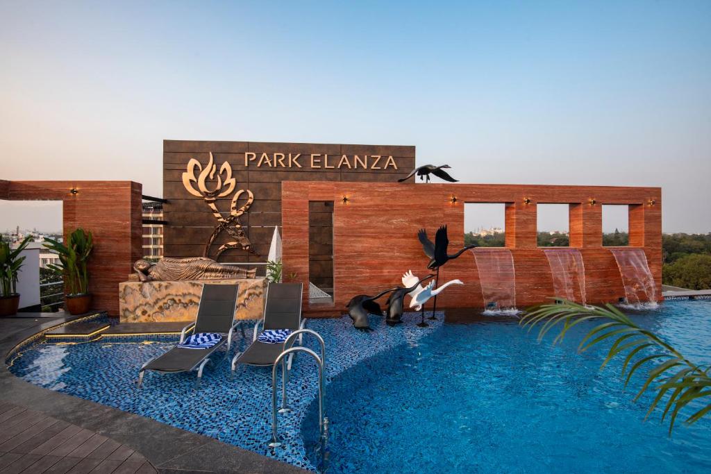
[[[711,363],[711,302],[635,318]],[[621,362],[600,371],[601,351],[577,354],[586,332],[552,348],[515,322],[445,324],[355,365],[328,386],[329,472],[711,472],[711,419],[671,438],[659,414],[643,422],[650,397],[623,392]]]

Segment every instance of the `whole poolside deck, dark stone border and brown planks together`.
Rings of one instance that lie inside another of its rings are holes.
[[[0,318],[0,406],[4,409],[0,414],[1,474],[307,472],[208,436],[44,389],[11,374],[3,362],[18,343],[75,319],[56,313]],[[12,426],[6,427],[5,422]],[[77,456],[86,451],[82,458]],[[77,463],[65,468],[75,459]],[[148,470],[151,466],[155,470]]]

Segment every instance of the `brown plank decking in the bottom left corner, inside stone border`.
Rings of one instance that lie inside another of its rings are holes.
[[[9,402],[0,402],[0,473],[157,473],[129,446]]]

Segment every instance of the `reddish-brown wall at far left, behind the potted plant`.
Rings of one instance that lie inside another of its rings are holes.
[[[70,193],[71,188],[78,193]],[[128,279],[134,262],[143,254],[141,188],[132,181],[11,181],[6,198],[60,200],[65,239],[77,227],[92,232],[92,306],[117,316],[119,283]]]

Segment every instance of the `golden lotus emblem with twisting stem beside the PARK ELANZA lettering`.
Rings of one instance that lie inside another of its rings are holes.
[[[185,186],[185,189],[188,193],[191,193],[191,195],[203,198],[210,208],[210,211],[213,212],[215,220],[218,222],[217,225],[215,225],[213,234],[210,235],[210,239],[208,239],[208,242],[205,244],[203,254],[205,257],[210,257],[210,247],[212,247],[215,239],[223,232],[227,232],[233,240],[220,245],[217,254],[215,254],[215,260],[220,258],[220,255],[228,249],[245,249],[247,252],[256,255],[257,253],[252,250],[252,242],[250,242],[249,237],[245,234],[245,228],[242,227],[242,222],[240,222],[240,216],[247,212],[252,202],[254,202],[255,196],[252,194],[252,191],[248,189],[238,190],[235,195],[232,196],[230,215],[223,217],[217,207],[217,199],[225,198],[232,194],[237,183],[235,178],[232,178],[232,166],[230,166],[230,163],[227,161],[220,166],[219,173],[217,170],[218,167],[215,164],[213,153],[210,153],[210,161],[208,161],[205,168],[203,168],[200,161],[191,158],[190,161],[188,161],[186,171],[183,173],[183,186]],[[196,176],[196,173],[199,173],[198,176]],[[208,180],[210,181],[210,187],[213,187],[212,189],[208,188]],[[195,185],[198,186],[197,189]],[[247,193],[247,201],[240,208],[237,208],[237,202],[243,193]]]

